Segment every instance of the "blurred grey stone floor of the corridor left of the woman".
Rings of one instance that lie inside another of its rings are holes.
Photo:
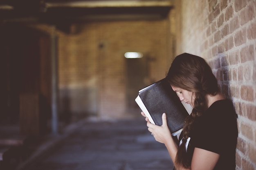
[[[136,120],[84,120],[19,170],[172,170],[164,146]],[[50,149],[49,149],[50,148]]]

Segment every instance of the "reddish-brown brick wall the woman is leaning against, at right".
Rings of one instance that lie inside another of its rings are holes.
[[[209,61],[238,114],[237,170],[256,169],[256,0],[174,1],[176,54]],[[181,11],[178,13],[177,11]],[[223,139],[228,140],[228,139]]]

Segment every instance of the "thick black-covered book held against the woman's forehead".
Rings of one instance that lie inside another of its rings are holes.
[[[152,124],[162,125],[162,114],[166,113],[168,128],[173,136],[181,133],[189,113],[166,78],[139,90],[137,105]]]

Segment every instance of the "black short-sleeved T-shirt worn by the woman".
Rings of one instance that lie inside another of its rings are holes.
[[[220,158],[214,170],[236,168],[236,143],[238,137],[237,115],[230,100],[218,100],[197,118],[190,133],[187,156],[192,160],[194,148],[218,153]]]

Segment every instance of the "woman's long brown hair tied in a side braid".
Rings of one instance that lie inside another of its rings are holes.
[[[206,94],[216,95],[218,83],[208,63],[203,58],[188,53],[175,57],[166,78],[172,86],[193,92],[195,97],[192,113],[186,118],[183,127],[183,138],[186,140],[195,120],[207,109]],[[175,164],[190,168],[191,158],[186,154],[184,143],[178,148]]]

